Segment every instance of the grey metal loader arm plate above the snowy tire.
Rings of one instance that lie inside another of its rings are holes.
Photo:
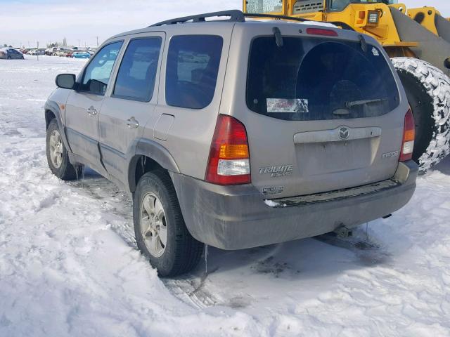
[[[418,22],[401,13],[397,8],[390,8],[401,41],[418,42],[417,47],[410,47],[420,60],[431,63],[445,74],[450,74],[446,68],[446,59],[450,58],[450,22],[439,21],[442,36],[437,37]],[[442,17],[441,17],[442,18]],[[442,18],[445,20],[444,18]],[[447,29],[445,32],[444,30]],[[445,38],[444,38],[445,37]]]

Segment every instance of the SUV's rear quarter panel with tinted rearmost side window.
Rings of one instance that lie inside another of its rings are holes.
[[[143,135],[169,150],[183,174],[198,179],[205,178],[233,28],[216,23],[189,24],[167,37],[156,119]]]

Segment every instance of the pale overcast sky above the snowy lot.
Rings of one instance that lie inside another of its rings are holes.
[[[404,0],[409,7],[435,6],[450,17],[450,0]],[[184,15],[240,9],[241,0],[0,0],[0,43],[45,46],[63,41],[96,45],[126,30]]]

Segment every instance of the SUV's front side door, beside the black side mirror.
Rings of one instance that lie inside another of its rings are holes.
[[[72,91],[65,110],[68,142],[72,152],[83,157],[100,173],[98,151],[98,113],[110,82],[122,41],[104,46],[82,73],[77,91]]]

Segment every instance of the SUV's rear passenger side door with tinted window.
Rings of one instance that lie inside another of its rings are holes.
[[[165,34],[134,37],[127,45],[115,86],[100,114],[100,146],[108,173],[127,177],[127,153],[153,117]]]

